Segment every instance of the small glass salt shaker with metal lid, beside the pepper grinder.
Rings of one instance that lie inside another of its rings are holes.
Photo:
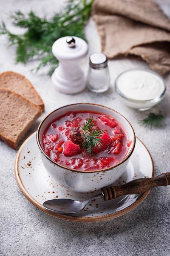
[[[103,53],[93,53],[90,56],[90,67],[87,76],[87,86],[94,93],[103,93],[110,87],[108,58]]]

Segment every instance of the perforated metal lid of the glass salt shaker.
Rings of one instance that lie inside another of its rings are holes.
[[[94,69],[102,69],[108,66],[108,58],[101,52],[91,54],[89,60],[90,67]]]

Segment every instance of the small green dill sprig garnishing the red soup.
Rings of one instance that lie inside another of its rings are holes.
[[[90,116],[90,118],[84,122],[81,126],[82,128],[82,137],[84,142],[82,143],[82,148],[86,148],[87,152],[92,154],[93,149],[97,146],[101,148],[102,140],[99,138],[105,131],[100,131],[100,129],[94,128],[95,121],[94,115]]]

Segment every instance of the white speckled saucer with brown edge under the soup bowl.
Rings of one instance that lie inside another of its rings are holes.
[[[141,177],[153,177],[153,160],[145,145],[137,138],[136,147],[122,177],[116,185]],[[49,177],[40,158],[36,132],[20,147],[15,161],[17,184],[26,198],[43,212],[69,221],[104,221],[119,217],[138,206],[149,192],[127,195],[111,201],[99,198],[92,201],[82,212],[74,215],[60,215],[42,207],[42,203],[53,198],[70,198],[84,201],[95,193],[78,193],[62,188]]]

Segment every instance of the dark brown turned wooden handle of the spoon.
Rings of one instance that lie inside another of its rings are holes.
[[[115,199],[121,195],[134,195],[144,193],[158,186],[170,185],[170,172],[162,173],[153,178],[140,178],[132,180],[121,186],[110,186],[102,189],[105,201]]]

